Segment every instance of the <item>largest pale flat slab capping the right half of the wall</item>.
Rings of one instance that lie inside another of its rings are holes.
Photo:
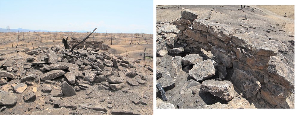
[[[232,42],[256,55],[270,57],[275,56],[278,52],[278,49],[271,43],[268,37],[253,33],[236,34],[232,37]]]

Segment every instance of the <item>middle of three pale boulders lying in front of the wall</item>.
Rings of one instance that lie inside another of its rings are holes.
[[[189,76],[197,81],[203,81],[215,75],[215,68],[210,59],[199,62],[189,71]]]

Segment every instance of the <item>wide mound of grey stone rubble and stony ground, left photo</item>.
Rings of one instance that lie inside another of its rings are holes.
[[[152,97],[143,88],[152,87],[152,68],[103,47],[75,48],[71,53],[54,45],[1,56],[1,112],[86,114],[92,110],[89,114],[141,115],[139,108],[152,108],[148,106]]]

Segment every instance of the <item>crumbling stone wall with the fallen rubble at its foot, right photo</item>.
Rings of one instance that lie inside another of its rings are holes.
[[[182,8],[176,20],[157,22],[156,79],[171,96],[167,103],[174,108],[255,108],[252,101],[265,108],[293,107],[287,99],[295,93],[295,70],[280,54],[288,53],[285,43],[197,16]],[[184,89],[189,81],[201,83],[201,91]],[[214,103],[186,100],[194,96]]]

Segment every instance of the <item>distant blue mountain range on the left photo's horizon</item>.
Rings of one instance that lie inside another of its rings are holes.
[[[18,28],[18,29],[10,29],[9,32],[48,32],[48,30],[28,30],[28,29],[23,29],[23,28]],[[1,28],[0,27],[0,32],[7,32],[6,28]],[[60,31],[50,31],[50,32],[60,32]],[[77,30],[77,31],[61,31],[61,32],[79,32],[79,33],[85,33],[87,31],[85,30]]]

